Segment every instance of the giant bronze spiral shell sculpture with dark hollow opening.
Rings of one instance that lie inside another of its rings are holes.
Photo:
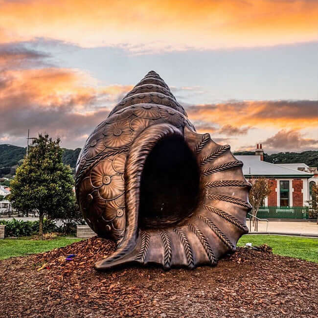
[[[150,71],[95,128],[77,161],[84,218],[117,244],[95,269],[216,265],[248,232],[250,183],[242,165],[229,146],[196,133]]]

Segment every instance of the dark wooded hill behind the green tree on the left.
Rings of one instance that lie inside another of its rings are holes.
[[[75,168],[77,157],[81,148],[75,150],[63,148],[63,163],[69,164],[71,168]],[[14,175],[15,167],[19,160],[23,159],[26,153],[26,147],[19,147],[8,144],[0,145],[0,178],[6,175]],[[9,176],[8,176],[9,177]]]

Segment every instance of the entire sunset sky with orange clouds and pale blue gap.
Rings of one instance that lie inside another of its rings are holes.
[[[317,0],[0,0],[0,143],[82,147],[149,70],[232,150],[318,150]]]

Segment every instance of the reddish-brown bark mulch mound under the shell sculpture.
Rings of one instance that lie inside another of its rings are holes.
[[[266,245],[193,271],[96,272],[94,262],[113,251],[93,237],[0,261],[0,317],[318,317],[318,264]]]

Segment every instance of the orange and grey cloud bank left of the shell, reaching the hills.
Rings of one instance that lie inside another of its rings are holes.
[[[132,86],[90,85],[91,77],[67,68],[0,71],[0,142],[47,132],[64,145],[82,146]]]

